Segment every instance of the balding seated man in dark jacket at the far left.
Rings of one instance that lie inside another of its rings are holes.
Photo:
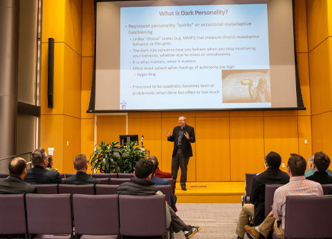
[[[15,157],[8,164],[9,177],[0,181],[0,194],[38,193],[37,187],[24,182],[26,177],[26,160]]]

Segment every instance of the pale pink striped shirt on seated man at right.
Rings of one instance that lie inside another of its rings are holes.
[[[288,184],[279,187],[273,198],[273,216],[282,220],[282,228],[285,229],[285,211],[287,195],[323,195],[322,185],[318,182],[306,180],[304,176],[292,177]]]

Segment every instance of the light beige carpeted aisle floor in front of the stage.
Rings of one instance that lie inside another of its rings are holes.
[[[176,213],[185,224],[201,226],[193,238],[236,239],[235,229],[241,211],[240,203],[179,203]],[[174,239],[183,239],[183,232],[174,233]],[[245,236],[245,239],[248,239]]]

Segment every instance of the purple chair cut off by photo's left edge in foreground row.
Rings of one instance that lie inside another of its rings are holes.
[[[26,234],[26,207],[23,194],[0,195],[0,234]]]

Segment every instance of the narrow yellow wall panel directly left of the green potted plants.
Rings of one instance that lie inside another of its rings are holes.
[[[86,155],[89,160],[91,153],[94,149],[94,119],[81,119],[81,153]],[[91,166],[89,164],[88,173],[92,173]]]

